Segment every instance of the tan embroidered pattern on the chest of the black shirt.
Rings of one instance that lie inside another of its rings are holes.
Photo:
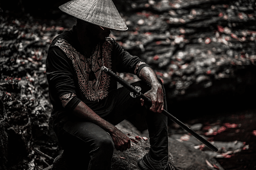
[[[96,79],[88,81],[88,75],[90,72],[89,63],[87,63],[85,56],[75,50],[66,40],[58,39],[55,46],[58,46],[64,51],[67,57],[72,61],[76,76],[78,78],[79,88],[84,94],[85,98],[90,101],[99,101],[107,96],[110,76],[101,71],[101,66],[111,69],[111,51],[113,49],[114,41],[112,38],[107,37],[106,41],[102,44],[98,44],[90,59],[93,64],[93,72]],[[100,55],[102,54],[102,55]]]

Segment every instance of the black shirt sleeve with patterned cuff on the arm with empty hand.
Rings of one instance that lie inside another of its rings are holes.
[[[62,107],[72,111],[81,101],[76,96],[73,81],[72,65],[59,47],[53,46],[48,50],[46,58],[46,76],[49,84],[49,93],[53,100],[60,102]]]

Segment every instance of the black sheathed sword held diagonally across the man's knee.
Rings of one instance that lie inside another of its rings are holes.
[[[121,77],[119,77],[118,75],[116,75],[114,72],[112,72],[110,69],[106,68],[105,66],[101,67],[101,70],[104,71],[105,73],[107,73],[108,75],[110,75],[111,77],[113,77],[117,82],[119,82],[121,85],[123,85],[123,87],[127,88],[130,92],[131,92],[131,96],[132,97],[140,97],[141,99],[144,100],[145,104],[148,107],[151,107],[152,105],[152,101],[151,99],[149,99],[148,97],[146,97],[145,95],[141,94],[140,90],[141,88],[136,86],[133,87],[132,85],[130,85],[129,83],[127,83],[125,80],[123,80]],[[191,130],[189,127],[187,127],[185,124],[183,124],[182,122],[180,122],[177,118],[175,118],[174,116],[172,116],[170,113],[168,113],[166,110],[163,110],[161,112],[162,114],[164,114],[165,116],[167,116],[167,118],[169,118],[170,120],[172,120],[173,122],[175,122],[176,124],[178,124],[181,128],[183,128],[185,131],[187,131],[188,133],[190,133],[191,135],[193,135],[196,139],[198,139],[199,141],[201,141],[203,144],[205,144],[207,147],[209,147],[212,151],[217,152],[218,149],[216,147],[214,147],[212,144],[210,144],[208,141],[206,141],[205,139],[203,139],[200,135],[198,135],[197,133],[195,133],[193,130]]]

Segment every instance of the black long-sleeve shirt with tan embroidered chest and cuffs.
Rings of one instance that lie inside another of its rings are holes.
[[[99,116],[107,115],[115,105],[117,83],[100,70],[104,65],[113,72],[138,74],[148,66],[137,56],[124,51],[113,38],[98,43],[86,57],[78,42],[75,26],[53,39],[46,58],[49,97],[53,105],[53,126],[83,101]],[[90,71],[95,79],[89,81]]]

